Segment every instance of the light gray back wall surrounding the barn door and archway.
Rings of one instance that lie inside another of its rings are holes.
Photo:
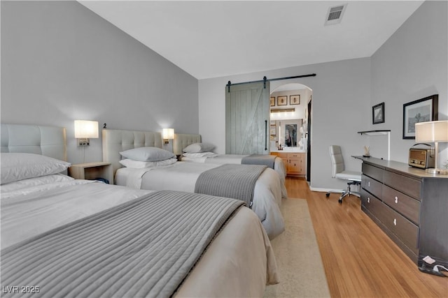
[[[349,170],[360,170],[360,162],[351,155],[363,154],[365,139],[358,131],[368,127],[370,116],[370,59],[351,59],[325,64],[298,66],[263,73],[218,77],[199,81],[200,134],[225,153],[225,84],[267,78],[316,73],[316,77],[273,81],[270,89],[281,84],[300,83],[313,91],[311,139],[311,188],[344,188],[342,181],[331,178],[328,153],[330,144],[340,144]]]

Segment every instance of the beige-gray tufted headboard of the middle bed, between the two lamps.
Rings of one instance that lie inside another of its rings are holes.
[[[162,133],[103,129],[103,161],[112,163],[114,175],[116,170],[123,167],[120,151],[139,147],[162,148]]]

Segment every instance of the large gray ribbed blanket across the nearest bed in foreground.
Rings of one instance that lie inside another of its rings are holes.
[[[2,296],[170,297],[243,204],[160,191],[45,232],[1,251]]]

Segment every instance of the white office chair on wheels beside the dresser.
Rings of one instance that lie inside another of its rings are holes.
[[[358,198],[361,197],[360,193],[356,191],[351,191],[351,186],[356,185],[359,186],[361,184],[361,173],[354,171],[346,171],[344,167],[344,158],[342,158],[341,147],[337,145],[330,146],[330,157],[332,164],[332,174],[331,177],[348,180],[347,189],[343,190],[334,190],[328,191],[326,193],[327,198],[330,196],[330,193],[341,193],[339,197],[339,204],[342,204],[342,199],[346,195],[356,195]]]

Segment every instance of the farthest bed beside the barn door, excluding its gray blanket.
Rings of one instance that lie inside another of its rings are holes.
[[[185,150],[188,152],[186,152]],[[212,150],[213,146],[210,144],[202,143],[201,135],[176,133],[173,140],[173,151],[177,156],[181,156],[181,161],[193,162],[193,163],[216,163],[222,165],[224,163],[263,163],[265,161],[258,161],[257,159],[251,159],[251,155],[244,154],[215,154]],[[288,198],[286,192],[285,178],[286,167],[283,163],[283,159],[278,156],[270,156],[274,159],[272,168],[279,174],[281,181],[281,196]],[[257,158],[255,156],[254,158]]]

